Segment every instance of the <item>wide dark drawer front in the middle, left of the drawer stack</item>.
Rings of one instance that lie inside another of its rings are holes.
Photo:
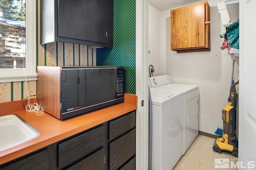
[[[76,161],[104,146],[104,126],[95,128],[59,144],[59,168]]]

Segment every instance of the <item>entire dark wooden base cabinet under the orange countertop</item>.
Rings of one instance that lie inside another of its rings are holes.
[[[0,165],[0,170],[135,170],[135,111]]]

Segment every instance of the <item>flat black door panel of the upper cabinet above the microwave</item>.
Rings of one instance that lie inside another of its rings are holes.
[[[58,36],[107,43],[107,0],[58,0]]]

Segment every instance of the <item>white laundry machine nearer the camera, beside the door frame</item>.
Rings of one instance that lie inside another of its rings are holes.
[[[184,95],[156,86],[150,87],[150,93],[152,170],[171,170],[183,154]]]

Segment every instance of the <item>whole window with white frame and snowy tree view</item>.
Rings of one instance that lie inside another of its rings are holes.
[[[1,0],[0,83],[36,80],[35,7],[35,0]]]

